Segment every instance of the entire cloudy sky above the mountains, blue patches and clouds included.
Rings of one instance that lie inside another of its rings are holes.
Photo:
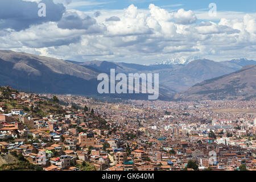
[[[256,60],[255,7],[255,0],[1,0],[0,49],[137,64]]]

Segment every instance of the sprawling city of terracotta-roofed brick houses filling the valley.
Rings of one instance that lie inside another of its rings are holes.
[[[0,170],[256,170],[255,101],[112,103],[9,86],[0,97]]]

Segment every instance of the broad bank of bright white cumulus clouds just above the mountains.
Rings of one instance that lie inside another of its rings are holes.
[[[256,24],[249,14],[222,18],[218,23],[199,22],[191,10],[168,12],[153,4],[147,10],[130,5],[124,10],[101,10],[98,17],[94,13],[69,9],[59,20],[32,21],[19,31],[6,26],[2,16],[0,27],[5,24],[9,29],[0,29],[0,48],[41,52],[60,59],[141,64],[171,56],[256,56]]]

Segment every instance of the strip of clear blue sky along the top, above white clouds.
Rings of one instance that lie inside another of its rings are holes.
[[[75,0],[73,0],[75,1]],[[78,7],[79,10],[93,10],[93,9],[125,9],[126,7],[134,4],[139,9],[147,9],[148,5],[154,3],[156,6],[164,7],[166,9],[184,8],[185,10],[202,10],[208,9],[209,3],[216,3],[217,9],[220,11],[242,11],[246,13],[255,12],[256,1],[232,1],[232,0],[128,0],[128,1],[91,1],[99,2],[101,5]],[[172,6],[174,5],[174,6]],[[176,6],[175,6],[176,5]]]

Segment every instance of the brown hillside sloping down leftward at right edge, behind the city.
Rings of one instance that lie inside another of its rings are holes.
[[[240,71],[205,80],[174,96],[176,100],[188,101],[235,98],[256,98],[256,65],[247,65]]]

